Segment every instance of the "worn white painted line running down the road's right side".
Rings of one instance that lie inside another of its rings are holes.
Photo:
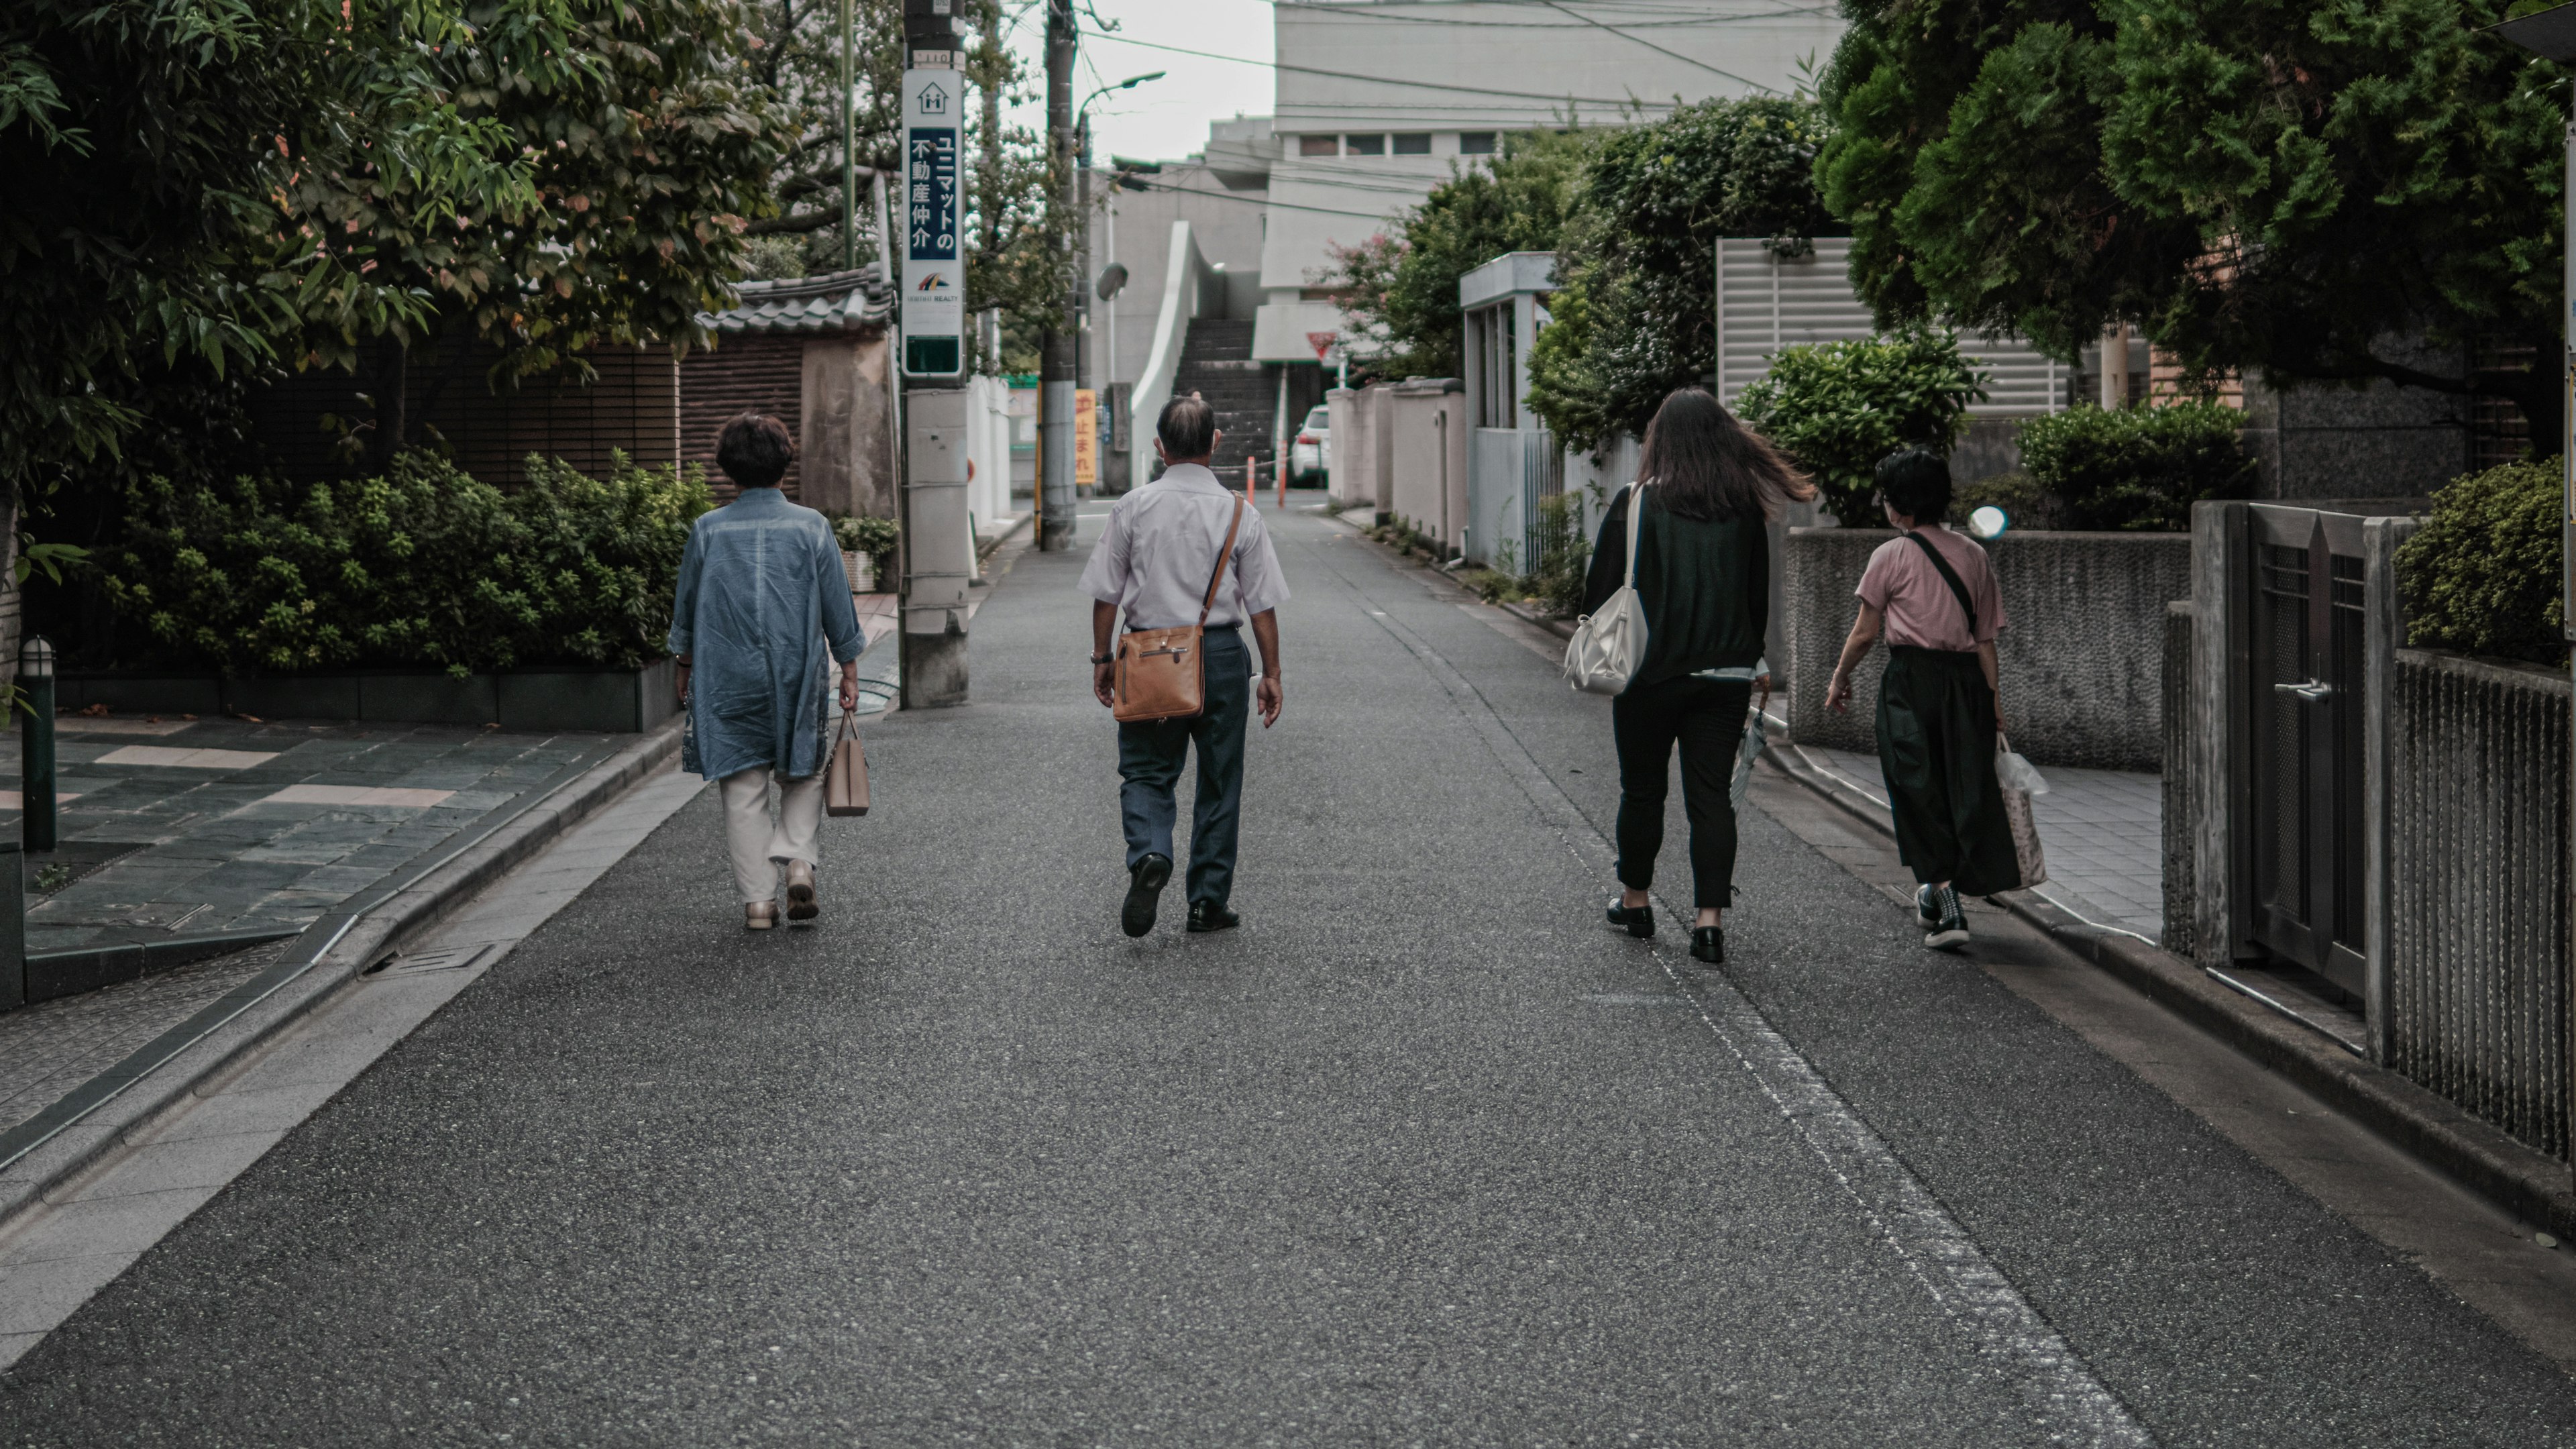
[[[1422,668],[1440,681],[1440,688],[1448,691],[1450,701],[1494,753],[1494,761],[1502,763],[1504,773],[1512,776],[1540,817],[1548,820],[1582,869],[1595,871],[1597,879],[1610,879],[1615,859],[1610,841],[1548,779],[1548,771],[1530,758],[1530,750],[1512,735],[1484,694],[1437,650],[1422,642],[1419,634],[1388,614],[1368,608],[1358,583],[1342,575],[1340,567],[1332,567],[1329,559],[1324,567],[1340,578],[1365,616],[1422,660]],[[1662,900],[1662,905],[1677,920],[1690,918],[1669,900]],[[1664,951],[1656,951],[1654,959],[1674,990],[1682,990],[1685,1000],[1690,1000],[1692,993],[1682,987],[1682,977]],[[2030,1307],[2030,1299],[2012,1287],[2012,1279],[1986,1258],[1968,1230],[1932,1196],[1932,1189],[1888,1150],[1878,1129],[1816,1073],[1814,1062],[1798,1055],[1728,977],[1700,972],[1698,980],[1700,1000],[1705,1003],[1700,1006],[1700,1021],[1710,1036],[1780,1106],[1780,1114],[1798,1129],[1834,1181],[1842,1183],[1842,1191],[1870,1227],[1878,1230],[1888,1250],[1932,1294],[1932,1302],[1960,1325],[1984,1356],[2002,1366],[2004,1379],[2030,1405],[2032,1415],[2040,1418],[2050,1441],[2107,1449],[2154,1446],[2156,1439],[2138,1423],[2128,1405]]]

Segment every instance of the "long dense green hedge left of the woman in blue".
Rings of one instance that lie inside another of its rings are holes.
[[[149,660],[219,670],[621,665],[662,655],[698,469],[528,459],[502,492],[425,454],[389,477],[137,487],[103,557]]]

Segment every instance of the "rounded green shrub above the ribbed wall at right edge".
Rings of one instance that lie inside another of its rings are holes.
[[[2468,655],[2563,665],[2558,459],[2527,459],[2455,480],[2398,549],[2409,642]]]

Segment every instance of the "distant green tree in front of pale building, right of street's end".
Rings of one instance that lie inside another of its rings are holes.
[[[1458,278],[1502,253],[1551,253],[1600,131],[1510,131],[1481,165],[1450,178],[1355,248],[1332,248],[1316,278],[1342,302],[1345,330],[1370,353],[1363,376],[1461,376]]]

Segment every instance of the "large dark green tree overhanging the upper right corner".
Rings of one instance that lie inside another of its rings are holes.
[[[2416,338],[2558,348],[2563,80],[2504,0],[1852,0],[1826,204],[1883,322],[2071,358],[2136,322],[2184,366],[2514,400]],[[2007,160],[2009,157],[2009,160]]]

